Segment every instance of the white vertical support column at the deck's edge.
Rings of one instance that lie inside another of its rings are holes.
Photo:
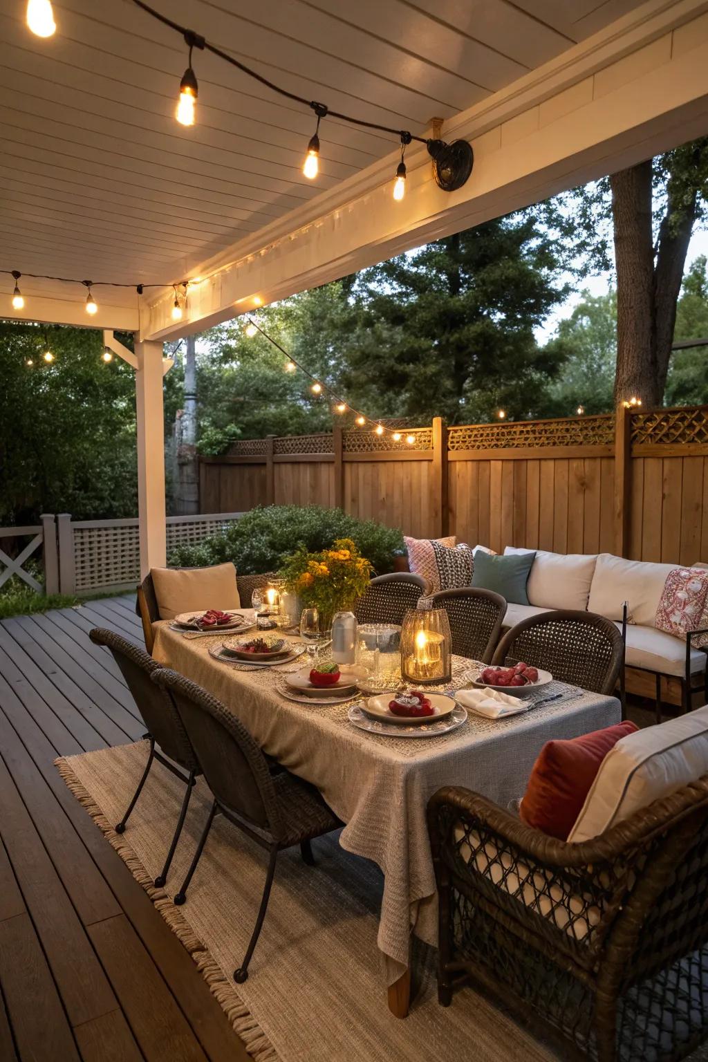
[[[138,516],[140,578],[167,564],[162,344],[138,343],[135,398],[138,416]]]

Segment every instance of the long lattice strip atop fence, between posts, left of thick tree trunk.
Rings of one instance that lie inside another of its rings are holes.
[[[541,446],[607,446],[615,441],[611,415],[563,421],[465,424],[448,430],[449,450],[494,450]]]

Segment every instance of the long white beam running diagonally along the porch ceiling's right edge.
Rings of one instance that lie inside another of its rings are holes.
[[[445,123],[474,170],[441,191],[425,148],[407,151],[392,199],[386,159],[197,266],[185,318],[171,293],[141,309],[141,335],[176,339],[633,165],[708,130],[708,0],[649,0]]]

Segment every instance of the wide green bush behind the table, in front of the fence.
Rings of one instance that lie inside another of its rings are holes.
[[[359,551],[383,575],[403,553],[403,535],[376,520],[360,520],[341,509],[321,506],[259,506],[225,532],[197,546],[179,546],[169,558],[175,567],[203,567],[232,561],[240,575],[258,575],[280,567],[298,545],[328,549],[335,538],[351,538]]]

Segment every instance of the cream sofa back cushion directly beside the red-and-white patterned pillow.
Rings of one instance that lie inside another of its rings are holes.
[[[612,553],[601,553],[590,585],[588,610],[607,619],[622,619],[622,605],[627,601],[631,623],[654,627],[667,576],[675,567],[675,564],[625,561]]]

